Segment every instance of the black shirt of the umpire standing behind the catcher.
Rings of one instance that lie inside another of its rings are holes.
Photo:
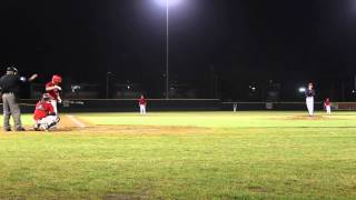
[[[17,74],[4,74],[0,78],[0,88],[2,93],[14,93],[20,92],[20,76]]]

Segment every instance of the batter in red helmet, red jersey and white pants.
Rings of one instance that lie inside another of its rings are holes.
[[[51,103],[55,109],[56,116],[58,116],[57,102],[61,103],[62,99],[60,98],[60,91],[62,88],[59,86],[62,82],[62,78],[58,74],[52,77],[52,81],[46,84],[46,92],[51,97]]]

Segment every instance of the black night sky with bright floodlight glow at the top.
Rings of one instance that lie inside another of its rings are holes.
[[[38,81],[59,73],[99,84],[111,71],[112,81],[159,98],[166,10],[158,1],[2,0],[1,69],[14,63],[22,74],[38,72]],[[169,18],[171,82],[199,98],[254,100],[248,86],[270,80],[284,100],[297,100],[297,88],[310,81],[319,98],[354,98],[355,0],[180,0]]]

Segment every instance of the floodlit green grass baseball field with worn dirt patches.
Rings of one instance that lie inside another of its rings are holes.
[[[356,199],[356,112],[75,117],[0,134],[0,199]]]

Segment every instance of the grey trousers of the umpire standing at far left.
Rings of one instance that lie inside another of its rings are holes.
[[[14,93],[3,93],[3,129],[10,129],[10,116],[12,116],[14,121],[14,128],[20,129],[22,127],[21,122],[21,111],[18,103],[18,99]]]

